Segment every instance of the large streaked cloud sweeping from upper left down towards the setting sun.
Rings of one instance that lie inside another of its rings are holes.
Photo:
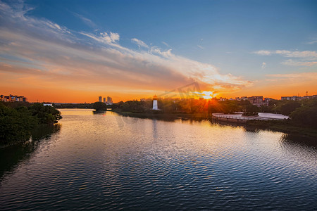
[[[19,86],[141,93],[192,82],[198,82],[202,91],[223,92],[252,84],[136,38],[132,41],[149,51],[122,46],[116,32],[75,32],[50,20],[32,18],[23,6],[13,8],[0,2],[0,22],[0,62],[6,65],[6,70],[0,68],[1,79],[13,78]]]

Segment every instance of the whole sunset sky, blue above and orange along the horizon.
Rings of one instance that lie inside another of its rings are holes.
[[[0,94],[317,94],[317,1],[1,1]]]

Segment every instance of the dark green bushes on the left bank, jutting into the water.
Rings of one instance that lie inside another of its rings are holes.
[[[61,120],[61,112],[42,103],[0,103],[0,147],[13,146],[30,140],[44,125]]]

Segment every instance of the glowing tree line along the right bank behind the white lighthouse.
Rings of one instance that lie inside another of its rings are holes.
[[[132,113],[158,113],[151,110],[153,101],[120,101],[113,104],[113,109]],[[288,115],[292,124],[307,127],[317,127],[317,99],[302,101],[271,100],[268,106],[254,106],[249,101],[216,101],[204,99],[159,99],[159,113],[188,113],[209,116],[212,113],[243,112],[244,115],[257,113],[280,113]]]

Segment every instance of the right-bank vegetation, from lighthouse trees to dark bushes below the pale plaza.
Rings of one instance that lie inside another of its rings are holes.
[[[161,110],[151,110],[152,101],[126,101],[113,105],[113,111],[123,116],[156,118],[162,120],[212,120],[213,113],[243,112],[245,116],[257,113],[280,113],[289,120],[247,120],[242,125],[247,129],[266,129],[286,134],[298,134],[317,139],[317,99],[303,101],[270,101],[268,106],[257,107],[249,101],[213,101],[182,99],[159,100]],[[218,122],[218,121],[217,121]],[[233,123],[232,125],[237,125]]]

